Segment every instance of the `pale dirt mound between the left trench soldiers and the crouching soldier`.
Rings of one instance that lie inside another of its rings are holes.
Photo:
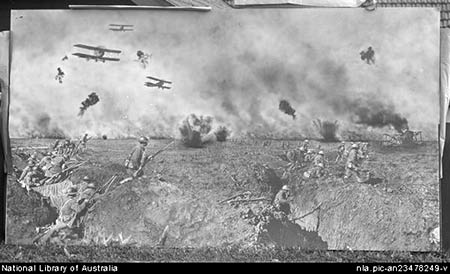
[[[199,247],[245,244],[253,233],[236,210],[157,180],[119,186],[96,208],[86,219],[90,233],[86,237],[122,233],[141,244],[156,245],[168,225],[166,245]]]

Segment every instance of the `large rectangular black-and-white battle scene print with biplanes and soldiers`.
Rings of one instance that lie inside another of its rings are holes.
[[[11,19],[8,242],[439,248],[437,10]]]

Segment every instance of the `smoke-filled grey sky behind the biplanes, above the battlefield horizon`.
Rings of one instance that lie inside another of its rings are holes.
[[[315,119],[337,120],[341,133],[382,134],[395,132],[378,119],[389,113],[437,140],[434,9],[17,10],[11,20],[13,138],[176,137],[192,113],[235,136],[314,137]],[[110,31],[111,23],[134,31]],[[109,55],[120,61],[87,62],[72,55],[89,53],[74,44],[121,50]],[[369,46],[373,65],[360,59]],[[138,50],[151,54],[146,68]],[[172,81],[172,89],[146,87],[146,76]],[[77,116],[92,92],[100,101]],[[296,119],[278,109],[280,100]]]

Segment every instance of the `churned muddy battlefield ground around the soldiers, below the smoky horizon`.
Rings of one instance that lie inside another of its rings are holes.
[[[12,140],[12,146],[52,142]],[[152,140],[148,150],[168,142]],[[265,187],[252,176],[254,164],[268,164],[281,176],[280,168],[286,164],[278,157],[285,151],[281,144],[272,141],[263,147],[262,141],[225,142],[194,149],[177,143],[146,167],[145,178],[111,187],[88,215],[84,241],[95,243],[96,239],[98,243],[108,235],[123,235],[139,245],[152,246],[169,225],[169,247],[251,247],[256,229],[241,215],[249,209],[257,212],[264,202],[232,207],[219,201],[243,191],[253,197],[266,195]],[[298,142],[289,144],[294,147]],[[71,180],[76,183],[90,175],[103,184],[113,174],[126,177],[121,165],[134,145],[134,140],[90,141],[89,150],[80,155],[90,163]],[[313,148],[317,145],[312,142]],[[265,244],[302,249],[438,250],[429,236],[439,225],[436,142],[407,148],[371,143],[366,167],[374,177],[367,183],[344,181],[343,163],[333,161],[338,143],[320,145],[329,160],[329,174],[305,180],[300,170],[287,179],[293,188],[291,217],[312,213],[295,224],[274,223]],[[16,163],[22,164],[18,158]],[[27,243],[37,235],[35,227],[50,222],[53,213],[37,203],[36,197],[28,201],[13,176],[8,183],[8,242]],[[39,216],[46,218],[33,217],[37,208],[45,211]]]

